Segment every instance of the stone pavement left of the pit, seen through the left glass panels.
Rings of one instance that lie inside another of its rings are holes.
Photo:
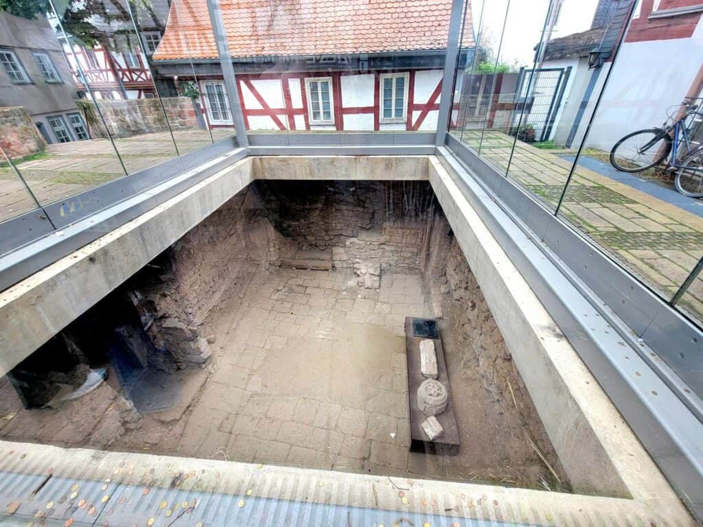
[[[212,130],[215,141],[232,134],[230,129]],[[174,138],[181,154],[211,143],[207,130],[174,131]],[[176,155],[168,132],[117,139],[115,144],[129,174]],[[17,167],[41,204],[61,200],[124,176],[115,149],[107,139],[49,145],[46,155],[20,162]],[[34,200],[11,167],[0,167],[0,221],[34,208]]]

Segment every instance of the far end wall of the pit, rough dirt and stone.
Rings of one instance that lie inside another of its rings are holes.
[[[425,181],[257,181],[277,238],[276,263],[329,252],[335,268],[378,264],[422,273],[429,219],[439,208]]]

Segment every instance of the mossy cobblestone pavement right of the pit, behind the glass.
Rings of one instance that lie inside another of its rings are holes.
[[[572,163],[499,131],[464,131],[463,141],[554,210]],[[510,160],[510,161],[509,161]],[[703,256],[703,218],[584,167],[576,167],[560,215],[629,271],[671,299]],[[703,280],[680,301],[703,319]]]

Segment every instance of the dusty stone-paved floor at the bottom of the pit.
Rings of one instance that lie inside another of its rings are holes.
[[[114,375],[58,410],[22,410],[6,383],[0,438],[543,488],[551,476],[526,437],[561,469],[541,425],[521,420],[531,405],[522,383],[512,377],[512,396],[491,395],[481,376],[498,370],[480,372],[444,321],[462,448],[446,457],[408,451],[404,319],[432,316],[428,297],[420,275],[384,273],[370,290],[347,270],[263,272],[208,325],[214,360],[186,381],[184,412],[135,419]],[[498,375],[502,384],[514,374]]]

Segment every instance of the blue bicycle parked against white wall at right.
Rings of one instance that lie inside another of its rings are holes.
[[[656,167],[671,154],[671,169],[678,169],[674,184],[676,190],[690,197],[703,197],[703,147],[692,148],[686,121],[697,112],[699,105],[684,100],[685,114],[674,119],[667,112],[661,127],[639,130],[628,134],[610,150],[610,164],[622,172],[640,172]],[[671,108],[678,108],[674,105]],[[671,110],[671,108],[669,110]],[[683,162],[678,162],[679,148],[685,146]]]

